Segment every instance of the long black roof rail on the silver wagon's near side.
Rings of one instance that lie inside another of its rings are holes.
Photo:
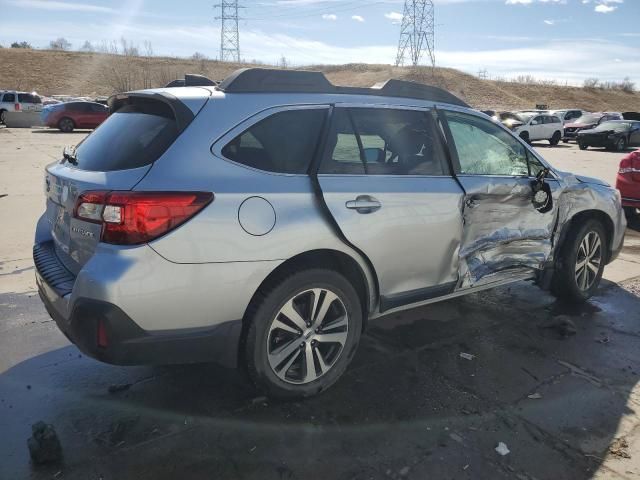
[[[373,87],[340,87],[332,84],[322,72],[242,68],[218,85],[226,93],[346,93],[383,97],[415,98],[469,107],[452,93],[431,85],[390,79]]]

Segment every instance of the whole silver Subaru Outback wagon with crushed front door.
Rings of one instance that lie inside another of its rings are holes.
[[[99,360],[216,361],[310,396],[377,317],[525,279],[583,301],[621,249],[616,190],[444,90],[183,83],[112,97],[46,168],[40,296]]]

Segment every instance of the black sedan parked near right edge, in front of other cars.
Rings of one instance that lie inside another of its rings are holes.
[[[604,147],[624,152],[627,147],[640,147],[640,121],[610,120],[595,128],[580,130],[577,138],[580,150]]]

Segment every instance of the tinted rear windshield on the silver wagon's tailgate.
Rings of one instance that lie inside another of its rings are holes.
[[[78,145],[76,167],[98,172],[143,167],[160,158],[178,135],[168,105],[126,105]]]

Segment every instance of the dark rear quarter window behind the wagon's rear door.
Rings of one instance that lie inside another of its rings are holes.
[[[326,115],[326,107],[274,113],[231,140],[222,155],[268,172],[307,173]]]

